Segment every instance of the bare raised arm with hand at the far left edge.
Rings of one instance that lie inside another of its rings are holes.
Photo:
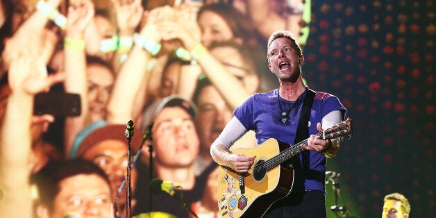
[[[47,70],[35,51],[28,49],[10,62],[8,97],[0,131],[0,217],[32,217],[31,118],[33,96],[49,87]]]

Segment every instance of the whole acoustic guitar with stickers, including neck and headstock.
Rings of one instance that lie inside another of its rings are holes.
[[[351,119],[346,119],[317,133],[321,139],[334,139],[353,133]],[[269,139],[255,148],[233,149],[230,152],[255,156],[246,174],[229,167],[219,167],[218,210],[221,217],[262,217],[271,205],[290,194],[294,184],[294,170],[283,164],[303,151],[308,139],[291,146]]]

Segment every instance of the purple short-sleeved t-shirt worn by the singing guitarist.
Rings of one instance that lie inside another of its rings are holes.
[[[246,99],[241,106],[236,108],[233,114],[246,129],[255,131],[257,144],[262,144],[265,140],[274,138],[293,145],[301,108],[307,93],[308,88],[306,88],[305,92],[303,92],[301,97],[296,101],[287,101],[279,97],[280,105],[284,111],[291,108],[285,123],[283,123],[282,111],[280,111],[278,104],[278,89],[267,93],[253,94],[249,99]],[[333,110],[341,110],[345,117],[346,109],[342,106],[342,103],[340,103],[337,97],[324,92],[316,92],[309,119],[310,135],[318,133],[317,123],[321,122],[322,117]],[[317,151],[303,152],[309,152],[308,171],[310,171],[310,173],[304,176],[304,189],[325,192],[326,158],[322,153]],[[303,156],[301,154],[300,160],[303,162]]]

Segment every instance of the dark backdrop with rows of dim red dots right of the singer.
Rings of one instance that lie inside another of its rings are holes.
[[[436,216],[434,8],[426,0],[312,1],[303,77],[337,95],[353,119],[328,169],[341,174],[339,206],[354,217],[381,217],[392,192],[409,199],[411,217]]]

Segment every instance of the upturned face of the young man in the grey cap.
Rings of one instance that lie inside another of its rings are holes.
[[[155,117],[153,146],[157,165],[189,167],[199,153],[199,144],[194,121],[183,108],[165,107]]]

